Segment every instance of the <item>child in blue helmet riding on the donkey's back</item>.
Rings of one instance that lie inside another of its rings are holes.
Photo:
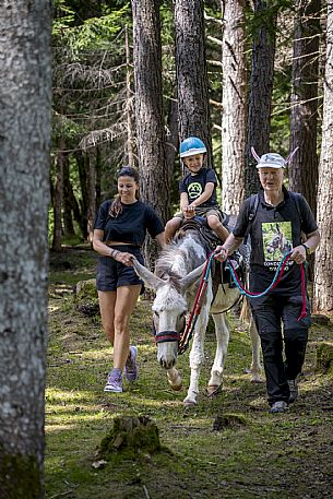
[[[206,217],[207,225],[224,241],[229,233],[221,223],[221,211],[216,201],[217,179],[212,168],[203,167],[207,150],[197,136],[189,136],[180,144],[180,158],[190,174],[179,182],[180,210],[165,227],[166,242],[170,242],[183,218],[194,215]]]

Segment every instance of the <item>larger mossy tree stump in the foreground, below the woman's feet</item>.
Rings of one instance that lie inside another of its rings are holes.
[[[158,428],[146,416],[116,417],[114,428],[104,437],[98,456],[106,461],[134,459],[160,450]]]

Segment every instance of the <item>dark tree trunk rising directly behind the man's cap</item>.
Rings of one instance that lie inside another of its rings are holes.
[[[245,164],[245,197],[258,191],[260,187],[255,161],[251,146],[261,156],[269,152],[271,131],[271,109],[274,76],[276,10],[270,2],[254,0],[254,20],[258,26],[253,34],[250,95],[248,112],[248,135]]]

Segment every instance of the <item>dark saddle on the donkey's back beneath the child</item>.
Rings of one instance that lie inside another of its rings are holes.
[[[224,215],[223,224],[228,226],[228,215]],[[204,242],[206,257],[211,254],[215,248],[221,245],[221,240],[211,230],[206,223],[206,218],[203,216],[195,215],[193,218],[185,219],[178,230],[176,237],[183,237],[187,231],[198,231],[201,240]],[[243,266],[243,259],[240,252],[236,251],[231,258],[233,265],[236,270],[237,276],[240,282],[243,283],[245,277],[245,266]],[[233,288],[236,284],[233,281],[231,272],[229,266],[226,262],[217,262],[215,259],[212,259],[212,278],[213,278],[213,297],[217,293],[219,284],[227,285],[228,287]]]

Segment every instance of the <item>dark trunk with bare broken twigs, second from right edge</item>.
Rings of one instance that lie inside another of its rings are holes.
[[[301,192],[316,213],[318,156],[318,59],[320,0],[298,0],[295,17],[289,188]]]

